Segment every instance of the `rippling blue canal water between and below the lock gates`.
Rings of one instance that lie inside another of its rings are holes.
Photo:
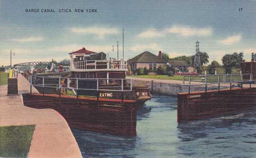
[[[255,158],[256,109],[177,123],[177,97],[153,95],[138,111],[137,136],[71,129],[84,158]]]

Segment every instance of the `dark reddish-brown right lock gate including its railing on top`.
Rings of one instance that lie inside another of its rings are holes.
[[[201,80],[196,80],[199,77]],[[256,80],[252,77],[252,74],[183,76],[183,86],[189,86],[189,91],[178,93],[178,122],[256,107],[256,88],[251,86]],[[188,82],[185,78],[188,78]],[[237,86],[232,85],[235,83]],[[218,89],[211,87],[209,90],[207,86],[213,84],[218,84]],[[229,88],[221,89],[221,84],[228,84]],[[205,86],[205,91],[191,92],[191,86]]]

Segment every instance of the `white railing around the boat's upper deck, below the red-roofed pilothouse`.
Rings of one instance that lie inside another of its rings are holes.
[[[73,61],[70,60],[71,70],[128,70],[126,61],[124,60],[86,60],[86,61]]]

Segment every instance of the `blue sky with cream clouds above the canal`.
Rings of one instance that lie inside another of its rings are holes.
[[[255,15],[256,1],[244,0],[0,0],[0,66],[10,65],[10,50],[12,64],[61,61],[82,47],[117,58],[117,41],[122,58],[122,28],[124,59],[143,51],[194,55],[199,41],[210,62],[241,51],[250,61],[256,53]]]

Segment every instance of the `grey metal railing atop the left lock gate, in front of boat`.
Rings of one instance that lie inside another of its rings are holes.
[[[29,84],[35,87],[93,90],[93,91],[132,91],[132,79],[107,78],[67,78],[55,76],[29,75]]]

